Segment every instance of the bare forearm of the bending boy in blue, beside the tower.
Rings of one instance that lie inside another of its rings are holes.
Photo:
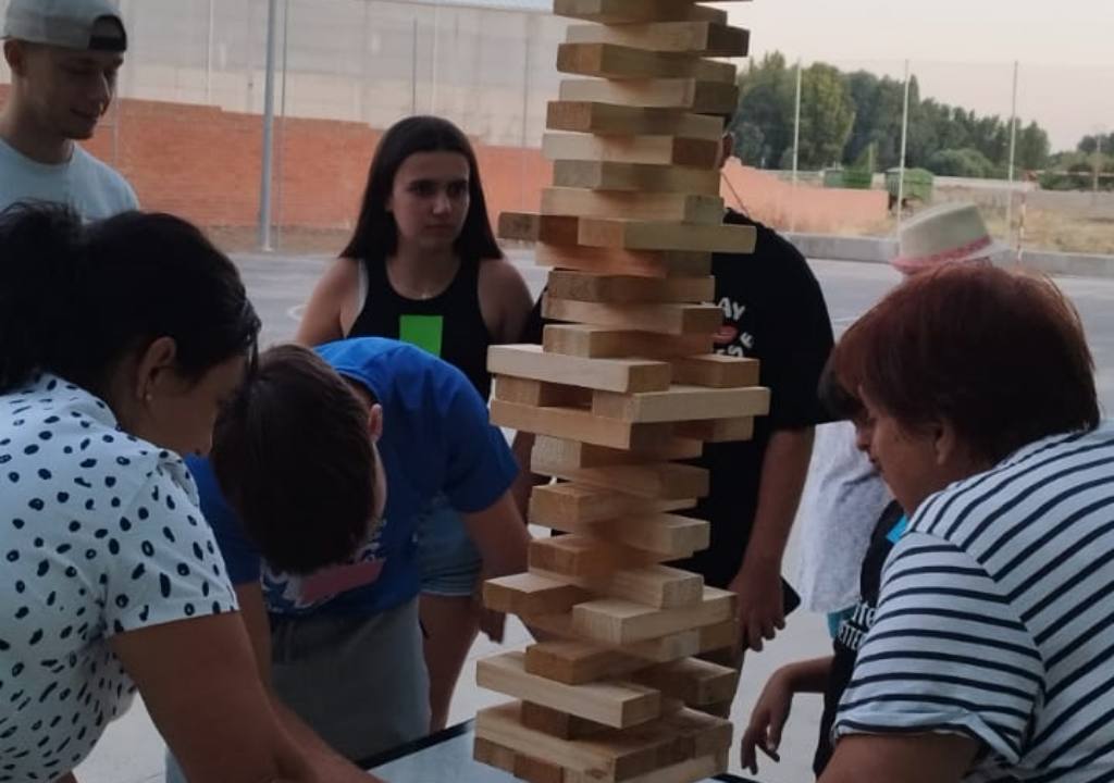
[[[510,490],[482,511],[466,513],[465,526],[483,559],[483,571],[476,590],[476,599],[482,603],[483,581],[527,569],[530,535]],[[502,642],[506,621],[506,615],[481,608],[480,630],[492,642]]]

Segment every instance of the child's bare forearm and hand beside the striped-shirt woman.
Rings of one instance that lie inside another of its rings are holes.
[[[756,775],[759,772],[755,751],[762,751],[775,762],[781,761],[778,747],[793,706],[793,696],[799,693],[823,693],[828,687],[831,669],[832,657],[828,656],[788,664],[770,675],[751,711],[751,720],[741,743],[742,765],[751,774]]]

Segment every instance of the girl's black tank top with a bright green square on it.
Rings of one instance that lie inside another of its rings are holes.
[[[463,372],[487,402],[491,392],[487,350],[494,341],[480,311],[481,263],[461,261],[457,276],[443,292],[428,300],[411,300],[391,285],[385,262],[363,262],[368,296],[349,336],[414,343]]]

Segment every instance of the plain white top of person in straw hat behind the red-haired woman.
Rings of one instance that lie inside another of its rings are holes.
[[[800,560],[793,585],[809,611],[842,611],[859,600],[859,575],[870,532],[891,496],[854,444],[854,425],[817,428],[809,480],[801,496]]]

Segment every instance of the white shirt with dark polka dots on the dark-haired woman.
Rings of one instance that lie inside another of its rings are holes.
[[[0,397],[0,782],[72,770],[135,686],[120,633],[236,609],[177,454],[53,375]]]

